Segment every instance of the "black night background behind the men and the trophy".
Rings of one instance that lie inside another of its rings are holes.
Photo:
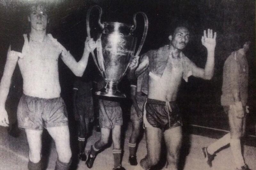
[[[5,0],[0,3],[0,76],[2,77],[6,53],[10,40],[16,35],[28,32],[26,2]],[[50,2],[50,1],[49,1]],[[215,71],[212,80],[189,78],[182,81],[178,101],[183,112],[184,124],[195,124],[228,130],[227,118],[220,105],[222,69],[225,59],[234,50],[238,37],[250,40],[251,49],[247,55],[249,63],[249,98],[250,115],[248,133],[255,135],[255,1],[254,0],[60,0],[51,4],[50,25],[48,32],[70,50],[79,60],[86,38],[86,12],[94,4],[102,7],[102,21],[118,21],[132,24],[133,14],[143,11],[149,20],[148,35],[140,54],[149,49],[156,49],[168,43],[170,25],[184,20],[191,27],[192,38],[184,53],[199,67],[206,62],[206,49],[201,44],[203,30],[211,28],[217,32],[215,50]],[[92,34],[98,31],[96,22],[98,12],[92,11],[90,22]],[[143,29],[142,17],[137,17],[138,32]],[[71,108],[72,84],[74,74],[59,60],[61,95],[69,108],[69,117],[73,119]],[[95,71],[92,58],[89,59],[84,78],[92,78]],[[21,94],[19,70],[14,73],[8,102],[15,103]],[[125,85],[126,83],[124,83]],[[15,86],[15,87],[14,87]],[[129,88],[129,86],[127,86]],[[125,87],[122,87],[125,89]],[[12,107],[10,108],[12,109]],[[12,116],[12,115],[11,115]],[[200,131],[200,130],[199,130]],[[200,132],[199,132],[200,133]]]

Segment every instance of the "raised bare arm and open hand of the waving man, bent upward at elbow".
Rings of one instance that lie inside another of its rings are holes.
[[[205,80],[210,80],[213,76],[214,71],[214,51],[216,46],[216,32],[212,33],[212,30],[208,29],[207,35],[206,30],[204,30],[204,36],[202,36],[202,44],[207,49],[207,61],[205,68],[193,67],[192,75],[195,77],[203,78]]]

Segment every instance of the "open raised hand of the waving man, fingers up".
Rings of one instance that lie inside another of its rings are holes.
[[[216,46],[216,36],[217,33],[214,32],[214,35],[212,33],[212,29],[207,30],[207,35],[206,35],[206,30],[204,30],[204,36],[202,36],[202,44],[208,51],[214,51],[214,48]]]

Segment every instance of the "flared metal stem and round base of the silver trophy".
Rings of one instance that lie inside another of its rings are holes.
[[[122,94],[118,89],[118,81],[106,80],[106,85],[100,91],[95,92],[96,95],[99,96],[107,96],[107,97],[119,97],[126,98],[125,94]]]

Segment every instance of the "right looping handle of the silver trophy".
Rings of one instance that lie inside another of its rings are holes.
[[[143,16],[143,18],[144,18],[144,32],[143,32],[143,36],[142,36],[142,39],[141,39],[141,41],[140,41],[140,46],[139,46],[139,48],[138,48],[138,50],[137,50],[137,53],[134,55],[134,57],[133,58],[136,58],[139,54],[140,54],[140,51],[141,51],[141,48],[142,48],[142,46],[143,46],[143,44],[144,44],[144,41],[145,41],[145,39],[146,39],[146,36],[147,36],[147,33],[148,33],[148,17],[147,17],[147,15],[144,13],[144,12],[137,12],[137,13],[135,13],[134,15],[133,15],[133,22],[134,22],[134,25],[132,26],[132,32],[136,29],[136,15],[137,14],[141,14],[142,16]]]

